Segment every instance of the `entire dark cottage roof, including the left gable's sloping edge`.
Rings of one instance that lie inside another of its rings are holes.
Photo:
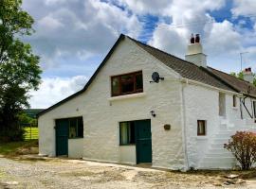
[[[125,36],[123,34],[121,34],[119,36],[118,41],[110,49],[107,56],[104,58],[104,60],[102,60],[100,66],[97,68],[97,70],[95,71],[93,76],[88,80],[88,82],[85,84],[85,86],[83,87],[83,89],[81,91],[64,98],[64,100],[54,104],[53,106],[49,107],[45,111],[38,113],[37,116],[39,117],[40,115],[55,109],[56,107],[64,104],[66,101],[85,92],[87,90],[87,88],[89,87],[89,85],[94,80],[94,78],[101,71],[101,68],[105,65],[106,61],[111,57],[112,53],[114,52],[114,50],[116,49],[118,44],[122,40],[124,40],[125,37],[128,37],[128,36]],[[255,96],[256,96],[256,88],[253,87],[251,84],[247,83],[246,81],[241,81],[240,79],[238,79],[236,77],[231,77],[228,74],[220,72],[218,70],[214,70],[213,68],[199,67],[190,61],[179,59],[179,58],[174,57],[173,55],[170,55],[164,51],[161,51],[153,46],[150,46],[150,45],[147,45],[144,43],[140,43],[137,40],[134,40],[130,37],[128,37],[128,38],[131,39],[132,41],[134,41],[135,43],[137,43],[138,46],[140,46],[142,49],[147,51],[149,54],[154,56],[155,59],[160,60],[165,65],[172,68],[181,77],[186,77],[186,78],[189,78],[189,79],[201,82],[201,83],[208,84],[213,87],[217,87],[217,88],[224,89],[224,90],[229,90],[232,92],[243,92],[244,94],[247,94],[246,93],[247,86],[249,85],[252,88],[251,94],[253,94],[253,95],[255,94]]]

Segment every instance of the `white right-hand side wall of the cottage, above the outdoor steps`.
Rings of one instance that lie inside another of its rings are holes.
[[[245,130],[250,129],[253,125],[248,124],[249,121],[252,122],[253,120],[249,117],[245,118],[245,110],[243,110],[245,119],[241,119],[239,98],[237,99],[237,107],[233,107],[233,94],[225,94],[226,117],[220,117],[219,93],[219,91],[210,88],[184,84],[187,150],[190,167],[197,168],[202,158],[205,157],[205,153],[208,152],[210,143],[214,139],[214,134],[220,131],[221,120],[225,119],[229,126],[232,124],[232,127]],[[246,102],[247,107],[251,107],[249,98]],[[250,111],[252,111],[251,108]],[[206,136],[197,136],[197,120],[207,121]]]

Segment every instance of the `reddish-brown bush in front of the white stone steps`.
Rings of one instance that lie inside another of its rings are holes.
[[[256,163],[256,133],[237,131],[224,147],[233,153],[243,170],[251,168]]]

